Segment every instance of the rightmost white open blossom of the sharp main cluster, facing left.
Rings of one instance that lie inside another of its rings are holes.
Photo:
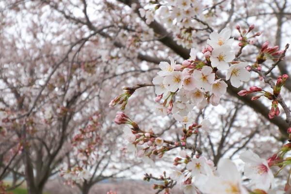
[[[241,81],[247,82],[250,80],[250,72],[245,69],[248,66],[246,62],[241,62],[230,66],[226,73],[226,80],[230,79],[230,83],[233,87],[239,88]]]

